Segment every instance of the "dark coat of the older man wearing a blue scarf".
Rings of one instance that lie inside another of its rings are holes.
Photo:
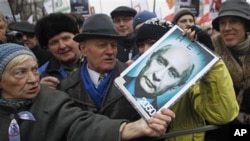
[[[105,96],[100,108],[93,102],[92,98],[83,87],[84,85],[81,80],[82,76],[80,69],[70,77],[64,79],[60,83],[59,89],[68,93],[83,110],[106,115],[112,119],[128,119],[134,121],[140,118],[139,114],[123,96],[121,91],[113,84],[114,79],[119,76],[126,67],[125,64],[117,61],[115,72],[106,88]]]

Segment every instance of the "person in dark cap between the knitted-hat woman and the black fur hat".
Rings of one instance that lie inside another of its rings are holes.
[[[42,66],[52,57],[52,54],[49,51],[42,49],[39,45],[35,36],[34,24],[27,21],[12,22],[8,27],[9,30],[18,31],[22,34],[23,45],[29,48],[36,55],[39,66]]]

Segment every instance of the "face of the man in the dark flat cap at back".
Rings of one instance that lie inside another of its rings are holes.
[[[134,32],[133,17],[117,16],[113,18],[113,23],[119,35],[127,36],[131,35]]]

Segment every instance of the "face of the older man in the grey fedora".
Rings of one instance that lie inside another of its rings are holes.
[[[86,39],[80,42],[80,48],[90,69],[104,73],[114,68],[117,55],[117,39]]]

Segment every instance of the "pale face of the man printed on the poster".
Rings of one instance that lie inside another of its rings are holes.
[[[140,86],[148,94],[156,96],[163,94],[182,82],[186,74],[184,72],[190,66],[192,61],[186,50],[171,47],[169,50],[160,51],[150,58],[140,72]]]

